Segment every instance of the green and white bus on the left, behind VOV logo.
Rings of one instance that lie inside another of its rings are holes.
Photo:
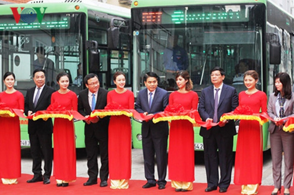
[[[96,73],[103,88],[113,87],[112,73],[121,70],[131,87],[130,10],[97,1],[42,0],[26,4],[0,6],[0,75],[14,72],[15,88],[24,96],[35,86],[32,79],[38,47],[43,47],[48,71],[46,84],[58,89],[56,75],[70,75],[70,90],[85,88],[82,81],[90,72]],[[52,70],[53,69],[53,70]],[[2,76],[1,76],[2,77]],[[0,91],[5,86],[0,82]],[[29,146],[28,121],[20,118],[21,146]],[[85,147],[84,123],[75,121],[76,147]]]

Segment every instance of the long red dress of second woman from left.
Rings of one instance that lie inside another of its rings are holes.
[[[73,91],[51,96],[51,104],[57,102],[66,110],[77,111],[77,95]],[[57,111],[58,112],[58,111]],[[53,126],[54,175],[56,179],[72,181],[76,179],[76,146],[73,120],[55,118]]]

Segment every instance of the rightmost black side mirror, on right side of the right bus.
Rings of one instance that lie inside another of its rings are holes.
[[[266,41],[269,42],[269,63],[281,64],[281,44],[277,33],[266,33]]]

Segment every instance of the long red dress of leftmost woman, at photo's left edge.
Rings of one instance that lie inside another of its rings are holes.
[[[0,102],[10,109],[24,110],[24,96],[0,93]],[[21,176],[21,130],[18,117],[0,117],[0,178],[15,179]]]

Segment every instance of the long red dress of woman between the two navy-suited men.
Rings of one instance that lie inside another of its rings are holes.
[[[177,91],[169,96],[170,105],[182,105],[185,110],[196,110],[198,95],[194,91],[182,94]],[[171,121],[168,148],[168,178],[174,181],[193,182],[194,130],[188,120]]]

